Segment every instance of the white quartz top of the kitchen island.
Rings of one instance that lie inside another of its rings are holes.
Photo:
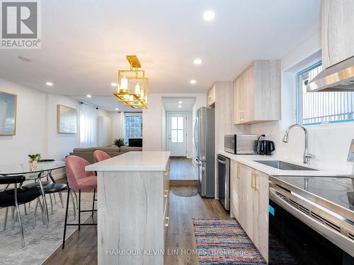
[[[132,151],[99,163],[88,165],[86,171],[163,171],[169,162],[170,152]]]

